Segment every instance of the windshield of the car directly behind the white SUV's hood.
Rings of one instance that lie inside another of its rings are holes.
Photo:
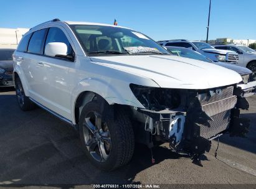
[[[189,48],[172,48],[172,47],[166,47],[169,52],[173,53],[174,55],[178,55],[179,57],[185,57],[185,58],[192,58],[195,60],[201,60],[204,62],[211,63],[212,61],[208,58],[204,57],[204,55],[201,55],[194,50],[191,50]]]

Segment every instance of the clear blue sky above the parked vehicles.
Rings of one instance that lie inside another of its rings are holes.
[[[0,27],[59,18],[130,27],[154,40],[205,40],[209,0],[2,0]],[[256,39],[256,0],[212,0],[209,39]]]

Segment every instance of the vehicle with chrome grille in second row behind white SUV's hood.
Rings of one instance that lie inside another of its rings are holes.
[[[158,44],[164,47],[185,47],[191,48],[192,50],[201,53],[202,55],[210,58],[214,62],[229,62],[237,63],[239,55],[231,50],[219,50],[211,45],[201,41],[189,41],[189,40],[163,40],[159,41]]]

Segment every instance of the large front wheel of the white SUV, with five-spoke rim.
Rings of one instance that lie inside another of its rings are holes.
[[[106,102],[87,103],[80,114],[80,139],[88,159],[102,170],[114,170],[127,164],[135,139],[128,115],[122,109],[114,113]],[[115,114],[115,115],[114,115]]]

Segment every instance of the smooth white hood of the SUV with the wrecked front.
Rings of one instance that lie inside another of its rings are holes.
[[[91,60],[150,78],[162,88],[207,89],[242,81],[238,73],[227,68],[172,55],[120,55],[91,57]]]

